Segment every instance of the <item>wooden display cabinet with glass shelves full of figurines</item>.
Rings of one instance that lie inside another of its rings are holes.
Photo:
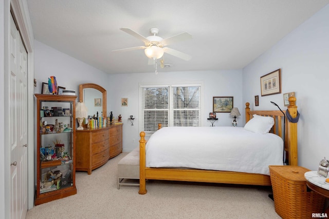
[[[77,96],[34,94],[36,99],[35,205],[77,193],[75,105]]]

